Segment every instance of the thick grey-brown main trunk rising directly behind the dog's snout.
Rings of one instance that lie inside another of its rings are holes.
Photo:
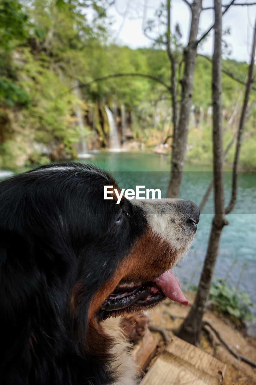
[[[177,197],[180,191],[181,177],[186,155],[188,124],[192,103],[194,66],[196,60],[197,33],[199,16],[202,10],[202,0],[194,0],[191,4],[190,37],[184,49],[184,74],[181,80],[181,106],[177,130],[173,137],[171,152],[171,179],[168,186],[167,198]]]

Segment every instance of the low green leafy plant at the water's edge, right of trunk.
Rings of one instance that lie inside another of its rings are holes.
[[[231,319],[243,322],[253,321],[253,315],[249,306],[253,306],[248,293],[238,293],[235,288],[228,286],[226,280],[218,278],[212,282],[210,288],[210,299],[214,301],[214,308],[231,316]]]

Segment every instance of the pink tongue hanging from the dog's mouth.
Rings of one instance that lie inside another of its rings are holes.
[[[175,277],[171,269],[156,278],[155,282],[158,286],[160,286],[166,297],[188,306],[188,300],[181,291],[180,282]]]

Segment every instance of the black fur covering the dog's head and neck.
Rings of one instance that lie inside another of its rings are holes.
[[[88,308],[145,223],[126,199],[104,200],[104,184],[113,184],[108,174],[80,163],[43,166],[0,183],[2,385],[113,380],[107,349],[96,346],[111,341],[89,339]]]

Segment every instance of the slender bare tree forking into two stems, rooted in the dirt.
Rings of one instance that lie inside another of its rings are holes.
[[[212,99],[213,99],[213,162],[214,162],[214,210],[211,233],[204,260],[203,271],[198,285],[198,291],[193,306],[181,325],[178,336],[184,340],[197,345],[202,325],[202,318],[206,307],[206,301],[209,296],[211,278],[218,255],[219,239],[223,227],[228,224],[225,214],[230,213],[236,203],[237,190],[237,169],[239,152],[241,148],[244,121],[246,119],[246,110],[251,92],[251,83],[253,80],[254,56],[256,47],[256,20],[253,34],[253,45],[251,54],[251,63],[248,70],[248,79],[244,94],[243,108],[238,127],[236,140],[236,152],[233,163],[233,183],[231,199],[226,208],[224,208],[224,185],[223,185],[223,140],[222,140],[222,112],[221,112],[221,0],[214,1],[214,54],[213,54],[213,72],[212,72]]]

